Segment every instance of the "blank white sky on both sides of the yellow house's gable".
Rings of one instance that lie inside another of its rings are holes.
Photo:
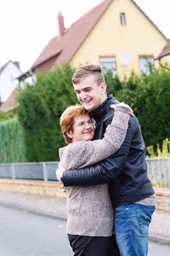
[[[0,0],[0,67],[20,61],[26,72],[51,38],[58,34],[57,14],[65,27],[93,9],[101,0]],[[135,0],[156,26],[170,38],[170,1]]]

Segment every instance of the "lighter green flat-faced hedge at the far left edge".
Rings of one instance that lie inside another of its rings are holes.
[[[0,123],[0,163],[26,161],[23,129],[17,118]]]

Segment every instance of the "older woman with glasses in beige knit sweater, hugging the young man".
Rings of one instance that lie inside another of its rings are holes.
[[[115,116],[106,129],[105,137],[94,141],[94,122],[88,111],[82,106],[65,109],[60,117],[60,126],[68,145],[59,148],[59,157],[66,170],[92,165],[114,154],[121,147],[132,110],[125,104],[112,105],[111,108],[115,108]],[[66,231],[74,255],[118,255],[108,252],[113,233],[113,211],[108,184],[68,187],[66,194]],[[95,249],[94,252],[96,242],[98,251]]]

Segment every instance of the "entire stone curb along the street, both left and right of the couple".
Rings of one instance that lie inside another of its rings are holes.
[[[62,215],[57,214],[57,213],[54,214],[54,212],[48,212],[45,210],[42,211],[42,210],[36,209],[34,207],[28,207],[28,206],[14,203],[14,202],[0,201],[0,205],[3,207],[10,207],[10,208],[15,208],[15,209],[19,209],[19,210],[23,210],[23,211],[27,211],[27,212],[32,212],[32,213],[46,216],[49,218],[57,218],[57,219],[65,220],[65,221],[67,219],[67,216],[65,214],[62,214]],[[162,235],[159,233],[150,232],[149,240],[155,241],[155,242],[161,243],[161,244],[170,245],[170,236],[165,236],[165,235]]]

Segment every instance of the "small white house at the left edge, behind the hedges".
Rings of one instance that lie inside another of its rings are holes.
[[[18,80],[16,78],[21,73],[18,61],[8,61],[3,67],[0,67],[0,97],[2,103],[8,100],[8,97],[17,87]]]

